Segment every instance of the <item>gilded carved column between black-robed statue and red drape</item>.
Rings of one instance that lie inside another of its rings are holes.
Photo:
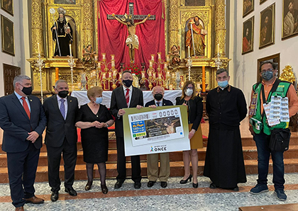
[[[84,0],[83,1],[83,24],[82,24],[82,31],[84,36],[82,40],[84,47],[87,45],[92,45],[94,48],[93,43],[93,35],[94,35],[94,24],[93,24],[93,1],[92,0]]]

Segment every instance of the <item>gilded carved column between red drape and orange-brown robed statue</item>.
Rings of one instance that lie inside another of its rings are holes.
[[[179,0],[170,0],[169,1],[169,49],[173,45],[178,45],[178,33],[179,33]]]

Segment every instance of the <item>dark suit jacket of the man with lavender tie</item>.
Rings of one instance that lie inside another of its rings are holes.
[[[61,147],[65,138],[68,143],[76,144],[77,127],[75,127],[75,119],[79,110],[77,98],[67,96],[66,119],[62,117],[56,95],[45,99],[43,108],[48,120],[45,144],[49,147]]]

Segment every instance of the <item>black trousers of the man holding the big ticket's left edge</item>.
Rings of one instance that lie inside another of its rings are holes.
[[[123,137],[116,137],[117,144],[117,181],[124,182],[126,179],[126,157],[124,153],[124,139]],[[131,179],[136,183],[140,182],[140,156],[131,156]]]

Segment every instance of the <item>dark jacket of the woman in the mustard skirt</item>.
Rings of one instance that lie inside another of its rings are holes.
[[[183,103],[184,99],[181,99],[180,97],[176,98],[176,105],[182,105]],[[196,96],[193,100],[190,99],[187,106],[189,110],[188,123],[193,124],[192,129],[197,131],[203,117],[202,98]]]

